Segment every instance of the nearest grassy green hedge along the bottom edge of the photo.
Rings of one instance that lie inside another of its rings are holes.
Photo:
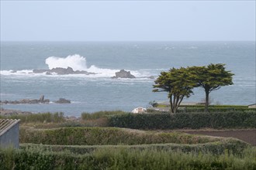
[[[182,151],[130,150],[108,148],[90,154],[41,151],[40,149],[1,149],[0,169],[255,169],[255,149],[240,155],[183,153]]]

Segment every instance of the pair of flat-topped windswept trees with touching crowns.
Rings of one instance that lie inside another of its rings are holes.
[[[191,66],[172,68],[154,81],[154,92],[168,92],[170,111],[175,114],[184,97],[193,94],[194,87],[202,87],[206,93],[205,111],[208,112],[209,93],[220,87],[232,85],[233,73],[225,70],[225,64],[209,64],[208,66]]]

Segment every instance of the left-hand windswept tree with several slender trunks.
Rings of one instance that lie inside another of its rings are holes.
[[[168,72],[161,72],[154,81],[154,92],[168,92],[171,113],[175,114],[184,97],[190,97],[195,82],[191,79],[192,74],[188,68],[172,68]]]

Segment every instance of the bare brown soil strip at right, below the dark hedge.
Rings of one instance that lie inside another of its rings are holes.
[[[219,136],[219,137],[232,137],[238,138],[242,141],[256,146],[256,129],[249,130],[199,130],[199,131],[182,131],[188,134],[204,134],[209,136]]]

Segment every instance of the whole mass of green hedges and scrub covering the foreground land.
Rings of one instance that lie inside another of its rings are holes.
[[[19,149],[0,148],[0,169],[256,168],[256,148],[244,141],[176,131],[255,129],[255,109],[211,105],[206,113],[203,105],[182,107],[176,114],[155,107],[147,114],[99,111],[81,118],[2,115],[21,119],[21,144]]]

